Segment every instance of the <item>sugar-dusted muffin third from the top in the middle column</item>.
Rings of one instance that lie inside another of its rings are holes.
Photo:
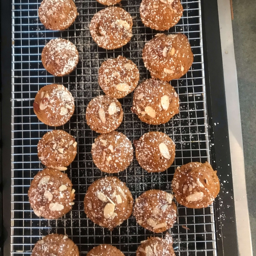
[[[131,93],[139,79],[137,66],[122,56],[107,59],[99,68],[99,86],[112,98],[120,99]]]

